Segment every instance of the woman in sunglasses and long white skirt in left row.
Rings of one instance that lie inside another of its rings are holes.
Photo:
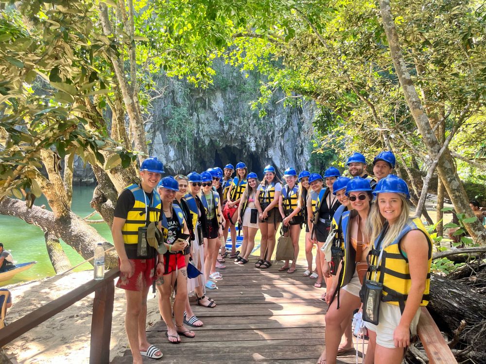
[[[188,281],[188,291],[194,292],[196,295],[197,304],[208,308],[216,307],[216,304],[211,298],[205,296],[206,291],[206,277],[204,275],[204,238],[203,235],[208,234],[208,225],[206,222],[206,209],[199,197],[201,192],[202,179],[201,175],[196,172],[191,172],[188,175],[189,179],[189,193],[184,197],[191,210],[192,225],[194,226],[194,241],[191,245],[191,258],[194,266],[203,274]],[[194,314],[191,315],[191,309],[186,303],[186,323],[195,326],[201,324],[194,321]],[[197,320],[197,317],[196,317]],[[195,326],[196,327],[196,326]]]

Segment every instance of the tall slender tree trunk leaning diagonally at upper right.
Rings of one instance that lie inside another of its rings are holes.
[[[442,149],[442,145],[437,140],[437,137],[431,128],[429,118],[424,112],[422,103],[417,94],[417,90],[415,89],[414,83],[405,64],[405,60],[399,46],[399,38],[395,29],[395,23],[392,17],[389,0],[380,0],[380,9],[383,20],[383,28],[388,40],[391,58],[395,66],[395,72],[399,78],[405,100],[417,124],[417,128],[422,136],[422,139],[427,146],[429,155],[434,160],[440,155],[439,152]],[[452,200],[452,203],[454,204],[456,211],[464,213],[468,218],[474,217],[474,214],[469,207],[469,199],[466,194],[466,190],[464,189],[464,186],[457,175],[457,171],[455,170],[454,162],[448,148],[445,148],[442,155],[440,155],[439,162],[437,164],[437,172],[439,177],[444,182],[444,186]],[[464,225],[473,240],[477,240],[481,245],[486,244],[486,234],[483,234],[485,228],[477,219],[471,223],[464,223]]]

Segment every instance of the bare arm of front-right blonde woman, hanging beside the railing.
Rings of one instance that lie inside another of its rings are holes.
[[[410,323],[422,301],[428,273],[429,247],[427,239],[422,232],[413,230],[406,234],[402,240],[401,248],[408,257],[412,284],[405,303],[405,310],[401,315],[398,327],[393,332],[395,347],[407,347],[410,344]]]

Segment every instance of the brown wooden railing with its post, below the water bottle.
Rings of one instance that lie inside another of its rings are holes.
[[[104,274],[103,280],[93,280],[82,284],[68,294],[54,299],[48,304],[12,322],[0,330],[0,347],[17,339],[20,335],[35,328],[35,326],[60,313],[92,292],[95,292],[93,317],[91,318],[89,363],[109,363],[111,321],[113,317],[113,301],[115,299],[114,280],[119,275],[120,270],[118,268],[110,269]]]

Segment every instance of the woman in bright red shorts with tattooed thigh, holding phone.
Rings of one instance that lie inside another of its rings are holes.
[[[179,191],[179,183],[174,177],[164,177],[160,180],[160,198],[163,213],[167,219],[167,252],[159,254],[156,267],[156,285],[159,291],[158,308],[167,325],[166,336],[170,343],[178,344],[179,335],[193,338],[195,333],[184,326],[184,308],[187,300],[187,268],[184,260],[184,249],[189,229],[184,219],[184,213],[178,205],[174,204],[175,194]],[[163,266],[162,266],[163,265]],[[163,273],[162,273],[163,272]],[[177,287],[177,289],[175,289]],[[174,307],[171,307],[171,293],[175,290]],[[174,313],[175,326],[172,321]]]

